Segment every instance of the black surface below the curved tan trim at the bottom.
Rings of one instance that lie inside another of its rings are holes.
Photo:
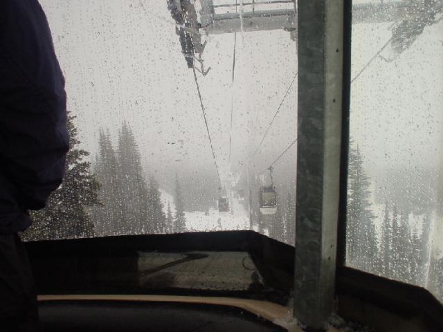
[[[40,302],[43,332],[286,331],[228,306],[158,302]]]

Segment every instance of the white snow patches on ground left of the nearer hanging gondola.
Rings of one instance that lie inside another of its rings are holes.
[[[161,201],[165,213],[168,212],[170,203],[172,214],[175,212],[174,198],[165,190],[160,190]],[[249,212],[239,203],[235,196],[230,199],[231,211],[219,212],[211,208],[208,212],[194,211],[185,212],[186,230],[188,232],[210,232],[217,230],[249,230]]]

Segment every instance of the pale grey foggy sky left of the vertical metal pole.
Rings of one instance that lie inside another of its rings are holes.
[[[126,120],[144,166],[164,177],[213,169],[192,70],[181,54],[168,8],[159,1],[42,1],[66,76],[69,109],[82,142],[97,151],[99,127],[116,137]],[[144,8],[144,9],[143,9]],[[222,181],[246,165],[296,73],[296,42],[284,31],[208,38],[199,84]],[[231,98],[233,127],[230,131]],[[230,165],[228,151],[232,133]],[[296,135],[296,84],[252,167],[266,167]],[[198,160],[198,162],[196,162]]]

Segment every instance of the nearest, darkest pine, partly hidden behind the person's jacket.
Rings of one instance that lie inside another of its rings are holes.
[[[80,149],[78,130],[68,114],[67,127],[71,149],[66,155],[66,174],[60,187],[51,194],[43,210],[31,213],[33,226],[24,234],[25,239],[65,239],[93,237],[94,225],[89,209],[99,205],[100,184],[91,174],[91,163],[84,158],[89,152]]]

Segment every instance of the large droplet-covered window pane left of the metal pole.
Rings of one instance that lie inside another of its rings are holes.
[[[25,239],[257,230],[293,243],[294,1],[40,2],[71,152]],[[278,207],[264,215],[271,186]]]

